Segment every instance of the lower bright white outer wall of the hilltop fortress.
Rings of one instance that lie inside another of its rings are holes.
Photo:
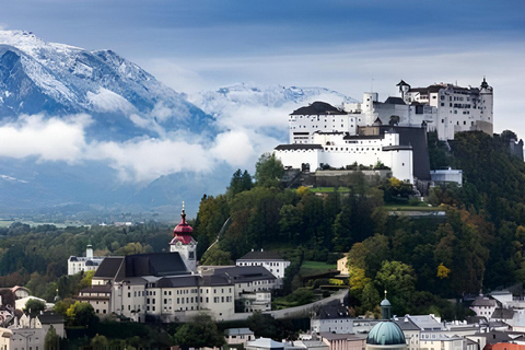
[[[312,145],[279,145],[276,156],[292,168],[310,170],[329,164],[346,167],[353,163],[374,166],[377,162],[392,170],[393,176],[413,184],[412,148],[399,144],[399,135],[385,132],[383,136],[349,137],[343,133],[315,133]]]

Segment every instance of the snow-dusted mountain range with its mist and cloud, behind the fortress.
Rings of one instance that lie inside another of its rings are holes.
[[[0,31],[0,213],[71,203],[197,212],[288,139],[288,114],[347,96],[236,84],[187,95],[112,50]]]

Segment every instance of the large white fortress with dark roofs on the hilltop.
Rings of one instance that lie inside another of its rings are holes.
[[[427,132],[443,141],[459,131],[493,131],[493,90],[433,84],[411,88],[400,81],[400,97],[378,102],[375,92],[340,107],[314,102],[290,114],[290,143],[275,149],[288,168],[315,171],[329,165],[386,166],[404,182],[430,180]]]

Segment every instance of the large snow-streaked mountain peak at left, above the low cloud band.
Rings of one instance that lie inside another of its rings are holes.
[[[163,128],[202,132],[213,121],[112,50],[89,51],[46,43],[31,32],[0,31],[0,117],[42,113],[88,113],[95,116],[97,132],[120,139],[154,136]]]

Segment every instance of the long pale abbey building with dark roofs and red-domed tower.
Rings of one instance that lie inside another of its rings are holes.
[[[208,313],[217,320],[235,312],[271,310],[277,278],[262,266],[214,267],[197,270],[197,242],[186,222],[174,230],[170,253],[106,257],[92,285],[78,300],[100,316],[117,315],[136,322],[185,320]]]

